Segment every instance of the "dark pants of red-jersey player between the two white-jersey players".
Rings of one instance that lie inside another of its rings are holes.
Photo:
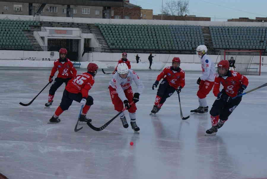
[[[163,104],[166,101],[166,99],[169,98],[174,93],[174,91],[175,91],[174,87],[171,87],[166,78],[164,78],[158,87],[157,95],[161,97],[159,103]]]

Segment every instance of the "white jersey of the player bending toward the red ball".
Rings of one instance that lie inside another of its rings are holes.
[[[139,76],[133,71],[129,69],[129,73],[127,74],[127,77],[125,79],[121,78],[119,76],[119,73],[116,72],[111,81],[109,82],[109,85],[112,88],[115,88],[119,98],[121,99],[121,101],[127,100],[123,90],[128,89],[131,84],[133,83],[133,81],[135,82],[136,86],[137,86],[137,90],[136,92],[138,92],[140,95],[142,94],[143,90],[144,90],[144,84],[143,82],[139,79]]]

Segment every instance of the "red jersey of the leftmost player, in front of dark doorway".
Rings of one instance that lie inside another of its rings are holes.
[[[77,74],[77,70],[73,67],[69,59],[67,59],[66,62],[60,62],[59,59],[57,59],[54,62],[54,67],[51,70],[50,76],[54,76],[57,70],[58,78],[75,78]]]

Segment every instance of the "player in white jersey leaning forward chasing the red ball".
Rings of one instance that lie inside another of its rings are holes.
[[[137,85],[137,90],[133,94],[131,84],[135,82]],[[142,94],[144,85],[139,79],[139,76],[133,71],[128,69],[125,63],[119,63],[117,66],[117,72],[113,75],[111,81],[109,82],[109,94],[114,104],[114,109],[118,112],[123,110],[123,104],[127,107],[129,112],[129,117],[131,119],[131,126],[134,131],[139,131],[140,128],[136,125],[136,105],[139,101],[139,95]],[[129,106],[129,103],[134,101],[134,103]],[[120,119],[124,128],[128,128],[128,123],[124,112],[120,114]]]

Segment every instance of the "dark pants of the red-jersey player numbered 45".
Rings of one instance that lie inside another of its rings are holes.
[[[71,93],[65,89],[60,103],[61,109],[63,111],[68,110],[73,100],[80,103],[82,100],[82,93]],[[88,97],[86,98],[86,105],[91,106],[94,104],[93,102],[94,99],[92,98],[92,96],[88,95]]]

